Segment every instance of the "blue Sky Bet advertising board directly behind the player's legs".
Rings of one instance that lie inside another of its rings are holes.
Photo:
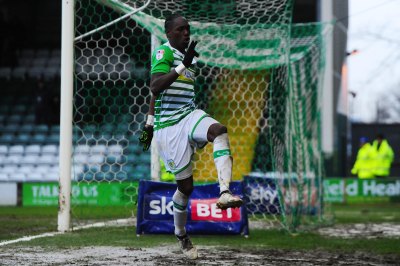
[[[233,194],[243,197],[242,182],[232,182]],[[172,234],[174,232],[172,196],[176,184],[140,181],[138,193],[137,234]],[[195,186],[188,203],[186,230],[189,234],[248,235],[246,208],[217,208],[218,184]]]

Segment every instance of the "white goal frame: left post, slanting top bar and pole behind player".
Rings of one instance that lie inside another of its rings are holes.
[[[72,168],[72,124],[73,124],[73,92],[74,92],[74,42],[103,30],[131,15],[145,9],[151,0],[142,6],[115,19],[99,28],[75,38],[75,0],[62,1],[61,25],[61,99],[60,99],[60,151],[59,151],[59,195],[57,230],[66,232],[71,229],[71,168]],[[159,44],[152,38],[152,47]],[[151,177],[159,180],[160,163],[155,145],[151,147]]]

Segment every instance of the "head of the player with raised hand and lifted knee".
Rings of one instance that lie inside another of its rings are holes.
[[[172,47],[184,52],[190,42],[190,26],[180,14],[174,13],[165,19],[165,34]]]

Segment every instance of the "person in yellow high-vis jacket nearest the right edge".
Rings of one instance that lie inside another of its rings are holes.
[[[390,175],[394,152],[382,134],[378,134],[372,143],[372,159],[375,177],[387,177]]]

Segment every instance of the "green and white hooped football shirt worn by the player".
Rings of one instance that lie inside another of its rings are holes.
[[[158,47],[151,58],[151,74],[169,73],[182,63],[184,55],[169,42]],[[194,65],[183,73],[163,92],[155,102],[154,130],[177,124],[196,109],[194,103]]]

